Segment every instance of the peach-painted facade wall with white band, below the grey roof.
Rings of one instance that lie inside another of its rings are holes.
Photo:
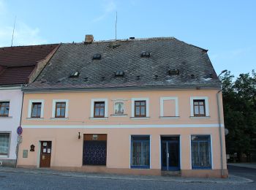
[[[205,102],[205,115],[195,117],[195,99],[203,99]],[[145,101],[145,117],[135,117],[137,101]],[[33,102],[41,105],[39,118],[31,118]],[[59,114],[56,111],[58,102],[65,103],[63,118],[56,118],[56,114]],[[105,104],[104,117],[95,117],[95,102]],[[115,114],[118,109],[118,104],[115,107],[116,102],[124,104],[124,107],[120,105],[120,110],[124,110],[124,113]],[[220,105],[222,107],[222,102]],[[220,111],[222,161],[224,174],[227,176],[222,109]],[[178,150],[173,159],[178,162],[177,167],[173,168],[180,170],[181,175],[221,177],[217,90],[27,93],[23,100],[22,126],[19,167],[42,166],[42,159],[46,158],[42,156],[42,151],[45,151],[50,155],[50,167],[59,170],[160,175],[166,167],[163,163],[163,146],[165,142],[175,142],[178,143]],[[94,134],[92,137],[96,137],[95,140],[99,140],[99,134],[106,134],[105,164],[85,164],[88,163],[85,156],[86,137],[89,137],[86,134]],[[208,167],[198,167],[195,164],[197,142],[192,140],[197,136],[207,137]],[[144,137],[145,140],[137,140],[137,137]],[[43,142],[50,143],[50,148],[42,146]],[[142,146],[145,142],[145,147],[149,148],[148,157],[143,162],[146,167],[143,164],[140,164],[143,167],[133,167],[136,165],[135,159],[138,159],[135,156],[137,142],[141,142]],[[35,146],[34,151],[30,151],[31,145]],[[24,153],[27,155],[24,156]],[[169,153],[171,155],[173,152],[168,152],[167,158]],[[171,166],[171,161],[167,163],[168,167]]]

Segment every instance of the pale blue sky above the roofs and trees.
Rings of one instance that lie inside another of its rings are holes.
[[[0,47],[94,39],[176,37],[208,49],[217,73],[256,69],[256,1],[0,0]]]

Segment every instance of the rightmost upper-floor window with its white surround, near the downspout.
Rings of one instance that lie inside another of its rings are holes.
[[[206,118],[209,115],[208,97],[195,96],[190,97],[190,117],[193,118]]]

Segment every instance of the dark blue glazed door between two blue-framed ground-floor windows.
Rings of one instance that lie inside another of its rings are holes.
[[[162,137],[162,170],[180,170],[179,137]]]

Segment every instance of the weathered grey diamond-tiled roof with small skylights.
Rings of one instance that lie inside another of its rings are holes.
[[[150,52],[150,58],[140,57],[143,51]],[[93,60],[95,53],[102,58]],[[180,74],[169,75],[169,69],[178,69]],[[124,77],[115,77],[119,70],[124,71]],[[69,77],[72,72],[80,72],[79,77]],[[151,38],[61,44],[37,80],[24,89],[219,86],[207,50],[175,38]]]

